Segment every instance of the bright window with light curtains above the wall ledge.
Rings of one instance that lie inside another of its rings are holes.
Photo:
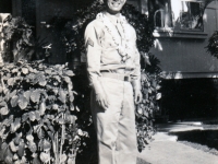
[[[156,28],[203,31],[203,1],[156,0],[150,3]]]

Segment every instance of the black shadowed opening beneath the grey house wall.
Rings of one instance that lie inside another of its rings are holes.
[[[218,84],[213,79],[162,81],[161,113],[169,120],[218,116]]]

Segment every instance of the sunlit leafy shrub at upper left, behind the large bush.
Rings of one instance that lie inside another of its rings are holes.
[[[31,60],[34,50],[34,37],[32,26],[26,24],[22,17],[11,17],[8,16],[3,20],[7,24],[3,26],[3,38],[7,42],[13,40],[13,61],[19,61],[20,59]],[[5,61],[12,60],[11,57],[4,56]]]

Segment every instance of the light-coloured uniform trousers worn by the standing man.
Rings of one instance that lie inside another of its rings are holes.
[[[97,131],[99,164],[136,164],[136,130],[133,87],[130,82],[100,78],[108,96],[105,110],[92,92],[92,114]]]

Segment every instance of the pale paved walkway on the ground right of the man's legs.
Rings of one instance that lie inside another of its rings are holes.
[[[218,164],[218,156],[177,142],[169,131],[204,129],[198,122],[160,125],[154,141],[138,153],[138,157],[150,164]]]

